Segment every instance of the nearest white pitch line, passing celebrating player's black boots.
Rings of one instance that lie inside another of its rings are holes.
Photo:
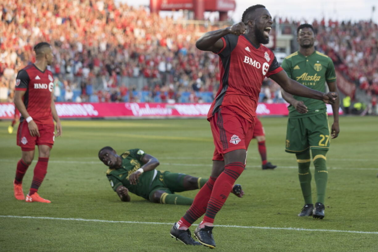
[[[52,219],[60,221],[93,221],[93,222],[107,222],[107,223],[128,223],[128,224],[160,224],[173,225],[173,223],[166,222],[143,222],[143,221],[107,221],[102,219],[82,219],[82,218],[54,218],[54,217],[35,217],[35,216],[14,216],[14,215],[0,215],[2,218],[21,218],[21,219]],[[242,229],[275,229],[275,230],[293,230],[293,231],[321,231],[321,232],[338,232],[338,233],[366,233],[378,235],[378,232],[364,232],[364,231],[350,231],[350,230],[332,230],[332,229],[302,229],[296,227],[255,227],[255,226],[232,226],[232,225],[214,225],[215,227],[234,227]]]

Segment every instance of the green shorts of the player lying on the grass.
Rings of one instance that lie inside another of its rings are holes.
[[[165,191],[169,194],[175,192],[185,191],[184,177],[187,174],[184,173],[171,173],[169,171],[159,171],[156,174],[155,179],[151,184],[151,191],[149,193],[149,199],[152,198],[152,194],[157,191]]]

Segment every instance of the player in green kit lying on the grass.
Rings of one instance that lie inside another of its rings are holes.
[[[160,164],[158,159],[141,149],[130,149],[119,156],[112,147],[106,146],[98,152],[98,157],[109,167],[106,176],[121,201],[130,201],[131,192],[154,203],[191,205],[193,199],[175,192],[200,189],[208,181],[183,173],[156,170]],[[244,194],[240,185],[234,185],[232,193],[239,198]]]

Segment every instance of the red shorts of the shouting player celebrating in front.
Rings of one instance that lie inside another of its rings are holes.
[[[236,149],[248,149],[253,137],[254,123],[228,107],[221,107],[210,121],[215,151],[212,160],[223,160],[223,154]]]

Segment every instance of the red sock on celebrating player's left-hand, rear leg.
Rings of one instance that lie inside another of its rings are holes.
[[[185,215],[181,217],[180,221],[177,222],[179,227],[190,227],[193,222],[197,221],[197,219],[206,212],[206,207],[216,180],[217,178],[210,177],[208,182],[198,191],[191,207],[186,211]]]

